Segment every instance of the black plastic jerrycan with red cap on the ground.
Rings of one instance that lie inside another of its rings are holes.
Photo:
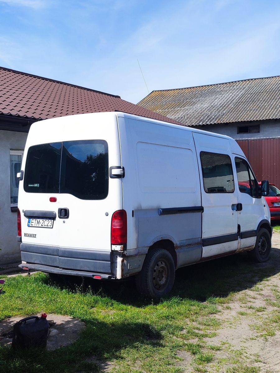
[[[41,317],[29,316],[19,320],[13,326],[12,348],[45,348],[49,333],[47,314]]]

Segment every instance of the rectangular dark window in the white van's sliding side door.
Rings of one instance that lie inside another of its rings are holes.
[[[227,154],[200,152],[203,186],[206,193],[233,193],[231,159]]]

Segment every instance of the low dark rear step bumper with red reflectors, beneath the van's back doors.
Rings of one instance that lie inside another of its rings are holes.
[[[83,277],[91,277],[94,278],[94,276],[100,276],[101,279],[116,279],[115,276],[108,275],[106,273],[94,273],[94,272],[85,272],[85,271],[74,271],[71,269],[62,269],[57,267],[50,267],[50,266],[44,266],[43,264],[29,264],[29,263],[23,263],[19,264],[20,268],[26,269],[32,269],[36,271],[46,272],[46,273],[56,273],[57,275],[70,275],[70,276],[83,276]]]

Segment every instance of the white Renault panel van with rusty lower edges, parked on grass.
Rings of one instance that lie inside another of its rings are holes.
[[[250,250],[270,211],[232,138],[122,112],[32,124],[18,174],[24,269],[122,279],[166,295],[175,269]]]

